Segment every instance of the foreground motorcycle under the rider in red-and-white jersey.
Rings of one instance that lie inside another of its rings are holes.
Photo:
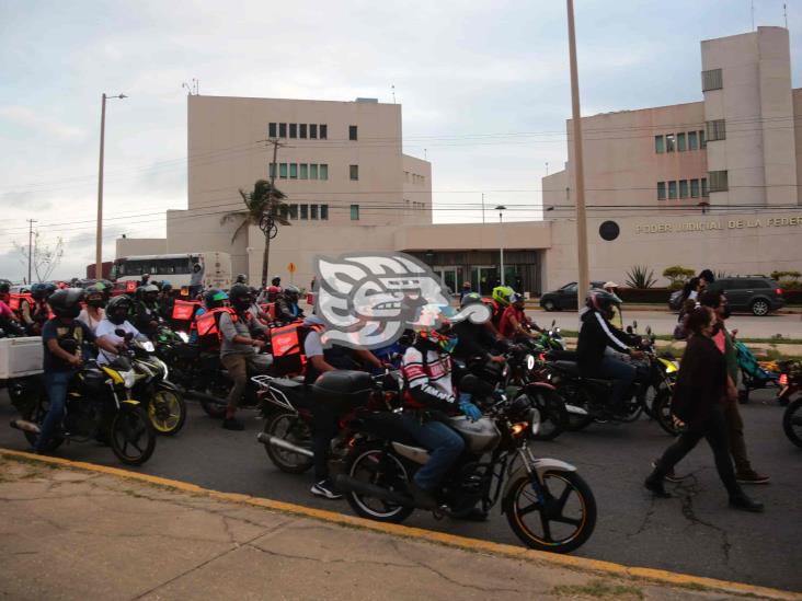
[[[472,374],[460,381],[472,394],[481,384]],[[535,458],[527,430],[537,409],[511,402],[499,390],[493,396],[495,403],[477,421],[448,418],[466,450],[435,492],[440,505],[435,516],[467,517],[477,506],[486,513],[501,499],[509,528],[527,546],[555,553],[578,548],[596,523],[593,492],[573,465]],[[399,523],[416,508],[409,486],[429,455],[400,419],[396,413],[364,413],[352,425],[354,446],[334,482],[363,518]]]

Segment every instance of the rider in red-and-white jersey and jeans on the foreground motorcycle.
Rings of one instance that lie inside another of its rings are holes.
[[[437,508],[434,494],[465,449],[462,438],[438,417],[444,413],[458,412],[472,420],[482,416],[469,397],[458,400],[454,389],[451,352],[456,345],[451,325],[444,320],[438,327],[421,330],[401,362],[406,406],[402,424],[408,434],[431,453],[410,485],[415,505],[426,509]]]

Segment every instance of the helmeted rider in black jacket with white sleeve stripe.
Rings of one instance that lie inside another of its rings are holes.
[[[614,413],[622,414],[626,395],[635,380],[637,369],[605,350],[610,347],[635,359],[643,358],[643,352],[630,348],[638,344],[635,336],[630,336],[609,321],[614,315],[612,307],[620,302],[618,297],[605,290],[591,290],[586,302],[588,311],[581,317],[576,362],[583,377],[614,380],[610,406]]]

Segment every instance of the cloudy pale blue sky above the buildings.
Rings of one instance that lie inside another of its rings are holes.
[[[755,25],[783,25],[754,0]],[[793,83],[802,2],[788,3]],[[583,115],[701,100],[702,39],[752,28],[749,0],[575,0]],[[571,113],[561,0],[0,0],[0,277],[26,274],[36,219],[62,241],[53,277],[94,262],[101,94],[104,258],[164,235],[186,208],[186,90],[403,106],[404,152],[433,166],[436,221],[539,215],[540,178],[566,160]],[[449,205],[476,210],[449,209]]]

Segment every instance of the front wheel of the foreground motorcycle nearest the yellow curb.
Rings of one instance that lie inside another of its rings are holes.
[[[593,534],[596,499],[576,472],[546,472],[542,486],[541,501],[528,476],[513,483],[504,499],[509,528],[531,548],[570,553]]]

